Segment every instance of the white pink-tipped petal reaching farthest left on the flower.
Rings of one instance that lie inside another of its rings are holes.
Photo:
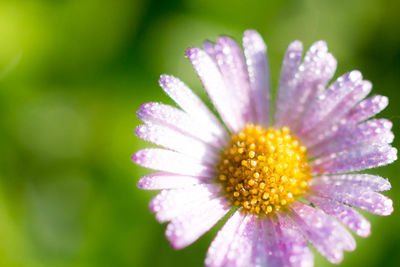
[[[215,177],[216,171],[187,156],[160,148],[147,148],[136,152],[132,160],[145,168],[170,173]]]

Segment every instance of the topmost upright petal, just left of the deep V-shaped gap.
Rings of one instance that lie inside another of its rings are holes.
[[[255,122],[263,126],[269,124],[270,88],[267,47],[255,30],[247,30],[243,36],[244,54],[249,73],[252,102],[255,109]]]

